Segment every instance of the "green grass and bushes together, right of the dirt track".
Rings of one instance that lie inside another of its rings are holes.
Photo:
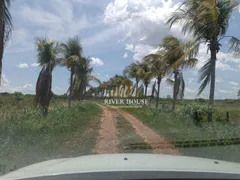
[[[216,112],[218,118],[214,118],[215,120],[209,123],[207,105],[189,101],[185,105],[178,104],[178,110],[171,112],[171,106],[166,104],[165,109],[126,108],[124,110],[167,138],[183,155],[240,162],[239,119],[238,122],[232,120],[227,122],[219,111]],[[235,106],[238,104],[239,102]],[[231,109],[230,105],[225,104],[225,107]],[[235,112],[234,105],[232,107]],[[200,121],[197,121],[196,113]],[[239,112],[237,114],[239,115]]]

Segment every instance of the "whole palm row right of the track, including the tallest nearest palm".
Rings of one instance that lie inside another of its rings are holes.
[[[240,1],[238,0],[185,0],[171,14],[166,25],[171,28],[175,24],[180,24],[183,34],[190,34],[193,37],[192,40],[182,42],[175,37],[164,38],[157,53],[149,54],[139,65],[132,64],[128,67],[133,69],[129,73],[129,77],[135,78],[136,85],[141,79],[145,85],[146,94],[150,77],[154,72],[154,77],[157,78],[159,97],[162,78],[166,74],[173,74],[174,80],[168,80],[174,87],[173,99],[183,97],[185,85],[182,80],[182,70],[196,65],[199,46],[205,43],[210,51],[210,58],[206,60],[199,71],[201,85],[198,94],[201,94],[210,83],[209,107],[211,108],[214,102],[217,54],[222,46],[221,42],[224,39],[230,39],[229,51],[236,57],[240,55],[240,40],[237,37],[226,35],[229,20],[239,5]],[[136,68],[137,66],[141,66],[141,68]],[[135,75],[136,72],[139,76]],[[174,100],[173,102],[175,102]],[[172,109],[175,109],[175,103],[173,103]],[[209,113],[208,120],[212,121],[211,113]]]

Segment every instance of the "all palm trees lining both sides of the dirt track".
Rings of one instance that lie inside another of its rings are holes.
[[[0,79],[2,75],[4,47],[13,29],[12,17],[9,11],[10,5],[11,0],[0,0]],[[199,45],[204,43],[207,45],[208,51],[210,51],[210,57],[199,70],[199,82],[201,85],[198,94],[201,94],[206,86],[210,84],[209,107],[211,108],[214,103],[217,54],[223,44],[225,44],[223,40],[229,40],[229,52],[233,53],[235,57],[239,57],[240,55],[240,40],[237,37],[226,34],[230,18],[239,5],[239,0],[184,0],[180,7],[170,15],[166,25],[172,28],[173,25],[180,24],[182,33],[190,34],[192,40],[183,42],[176,37],[169,36],[164,38],[157,53],[149,54],[143,59],[143,62],[137,64],[141,68],[138,70],[140,75],[136,79],[136,86],[137,81],[141,80],[144,84],[146,94],[149,79],[153,76],[152,73],[155,72],[154,76],[157,78],[157,96],[159,97],[159,87],[162,78],[166,74],[173,74],[174,80],[169,80],[169,83],[173,85],[174,100],[172,109],[174,110],[175,100],[184,95],[185,84],[182,80],[182,71],[185,68],[192,68],[196,65]],[[59,45],[55,41],[49,41],[46,38],[38,38],[36,40],[38,61],[42,67],[36,85],[36,102],[40,104],[45,114],[47,113],[47,107],[52,96],[50,88],[52,71],[56,65],[66,66],[71,72],[69,106],[71,105],[72,98],[81,100],[91,79],[96,80],[96,78],[91,76],[92,70],[89,67],[89,58],[80,58],[79,56],[82,51],[81,46],[76,46],[77,49],[74,49],[74,51],[68,49],[68,46],[74,45],[72,44],[73,40],[71,39],[67,42],[66,46],[63,44]],[[59,61],[55,61],[58,59],[59,46],[64,56]],[[153,65],[154,63],[157,63],[157,66]],[[155,67],[159,68],[154,70]],[[127,80],[125,81],[127,84],[130,83]],[[208,120],[212,120],[211,113],[208,116]]]

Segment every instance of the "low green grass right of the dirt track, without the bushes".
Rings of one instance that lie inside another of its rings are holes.
[[[240,138],[238,123],[204,123],[196,126],[193,120],[180,113],[149,109],[124,109],[154,129],[169,141]],[[240,162],[240,145],[179,148],[183,155]]]

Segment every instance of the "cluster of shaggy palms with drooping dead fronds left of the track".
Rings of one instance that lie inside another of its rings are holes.
[[[82,46],[79,37],[69,38],[66,43],[59,44],[48,38],[36,38],[38,63],[42,68],[36,84],[35,101],[40,105],[44,115],[52,99],[52,72],[56,66],[67,67],[70,71],[70,85],[68,89],[68,106],[71,100],[84,98],[90,81],[100,81],[91,73],[91,59],[82,56]]]

